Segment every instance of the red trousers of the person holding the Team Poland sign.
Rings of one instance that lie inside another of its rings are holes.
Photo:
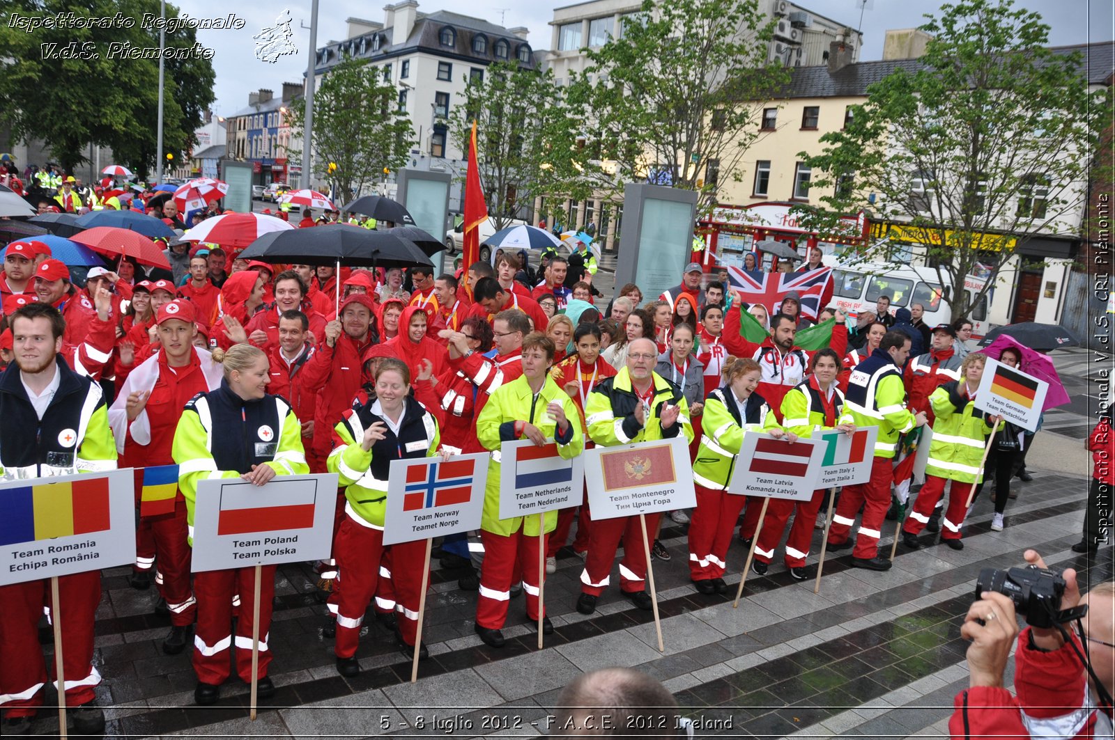
[[[271,605],[275,595],[275,565],[264,565],[260,575],[260,670],[268,674],[271,651]],[[255,568],[202,571],[194,574],[197,596],[197,631],[194,634],[194,673],[203,683],[220,685],[229,678],[229,650],[236,649],[236,673],[244,682],[252,680],[252,612],[255,596]],[[240,595],[236,634],[232,634],[232,600]]]

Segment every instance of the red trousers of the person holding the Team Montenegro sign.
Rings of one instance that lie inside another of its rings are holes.
[[[648,514],[647,536],[652,537],[661,514]],[[623,559],[620,561],[620,588],[633,593],[646,591],[647,552],[643,548],[642,527],[638,516],[597,519],[589,533],[589,554],[581,572],[581,591],[599,596],[611,580],[612,562],[620,538],[623,538]],[[648,545],[650,543],[647,543]]]

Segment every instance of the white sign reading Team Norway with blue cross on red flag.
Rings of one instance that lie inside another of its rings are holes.
[[[488,454],[391,460],[384,544],[478,529]]]

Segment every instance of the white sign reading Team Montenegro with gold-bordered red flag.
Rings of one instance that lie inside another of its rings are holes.
[[[689,447],[671,439],[584,450],[593,519],[672,512],[697,505]]]

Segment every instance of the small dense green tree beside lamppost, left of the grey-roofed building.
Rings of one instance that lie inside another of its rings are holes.
[[[366,59],[346,59],[329,70],[313,95],[316,174],[336,183],[338,206],[385,179],[385,168],[395,171],[406,163],[413,129],[399,113],[398,93],[385,81],[384,69]],[[302,140],[306,99],[297,98],[290,107],[291,140]],[[292,150],[290,158],[299,164],[301,150]],[[332,174],[327,173],[330,163],[337,165]]]

